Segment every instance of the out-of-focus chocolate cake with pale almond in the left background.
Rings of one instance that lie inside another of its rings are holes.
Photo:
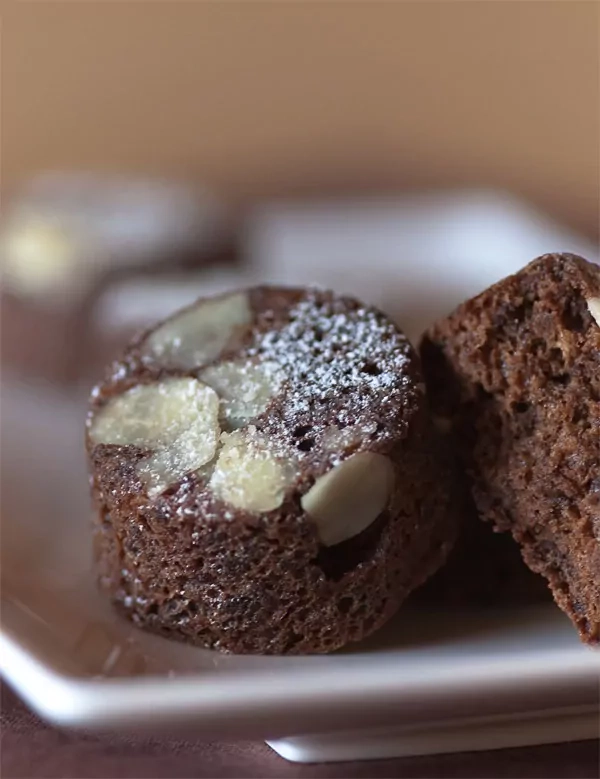
[[[174,279],[194,285],[204,269],[237,257],[231,213],[201,187],[40,174],[2,214],[3,368],[58,384],[85,381],[131,336],[127,321],[122,332],[118,322],[103,327],[111,323],[97,308],[111,289],[152,283],[160,290]]]

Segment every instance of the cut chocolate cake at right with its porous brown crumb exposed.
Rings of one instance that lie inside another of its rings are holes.
[[[434,325],[422,359],[480,516],[598,642],[600,268],[540,257]]]

